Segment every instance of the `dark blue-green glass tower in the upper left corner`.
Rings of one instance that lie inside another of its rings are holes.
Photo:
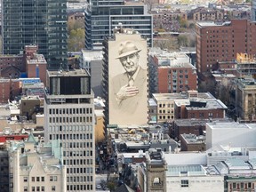
[[[67,64],[67,0],[3,0],[4,54],[18,54],[37,44],[48,68]]]

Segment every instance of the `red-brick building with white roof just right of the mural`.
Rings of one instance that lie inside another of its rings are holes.
[[[149,59],[150,93],[197,90],[196,68],[185,53],[151,54]]]

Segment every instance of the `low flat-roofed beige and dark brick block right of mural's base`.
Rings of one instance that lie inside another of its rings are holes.
[[[174,119],[224,118],[227,106],[210,92],[155,93],[157,123]]]

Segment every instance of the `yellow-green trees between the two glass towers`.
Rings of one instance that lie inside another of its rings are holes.
[[[68,52],[79,52],[84,48],[84,28],[72,29],[68,36]]]

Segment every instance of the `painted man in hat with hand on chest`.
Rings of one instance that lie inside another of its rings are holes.
[[[132,41],[119,46],[119,60],[125,72],[112,80],[114,106],[127,113],[140,108],[140,97],[147,94],[147,70],[140,66],[140,49]]]

